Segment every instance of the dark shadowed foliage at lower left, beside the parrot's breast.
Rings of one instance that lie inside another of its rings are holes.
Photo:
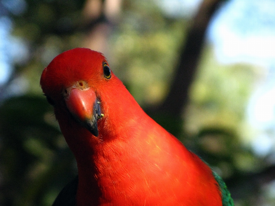
[[[0,106],[3,205],[51,205],[76,163],[46,98],[14,97]]]

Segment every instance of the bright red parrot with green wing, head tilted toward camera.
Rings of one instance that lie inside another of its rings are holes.
[[[55,206],[233,206],[223,180],[142,110],[103,54],[65,51],[40,85],[78,167]]]

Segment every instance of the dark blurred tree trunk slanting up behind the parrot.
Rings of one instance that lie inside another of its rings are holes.
[[[153,113],[168,113],[173,116],[178,116],[182,113],[182,109],[187,103],[188,90],[193,82],[200,59],[205,31],[221,2],[222,0],[205,0],[201,4],[187,34],[186,41],[182,46],[170,92],[162,105]]]

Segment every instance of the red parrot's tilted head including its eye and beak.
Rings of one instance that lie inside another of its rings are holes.
[[[75,48],[50,62],[42,73],[40,85],[55,113],[69,114],[98,136],[97,122],[104,116],[101,98],[108,93],[108,83],[117,80],[103,54]]]

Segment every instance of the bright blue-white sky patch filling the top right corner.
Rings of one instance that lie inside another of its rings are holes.
[[[275,66],[275,1],[228,1],[212,21],[207,37],[222,63]]]

